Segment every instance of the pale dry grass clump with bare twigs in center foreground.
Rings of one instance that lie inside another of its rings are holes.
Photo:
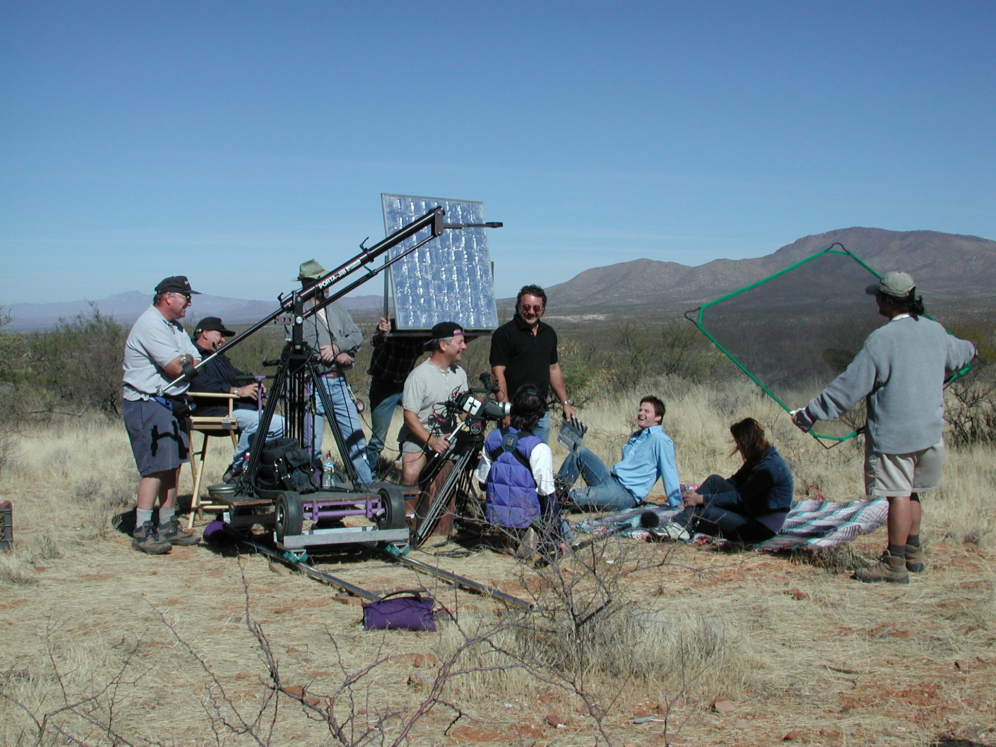
[[[464,654],[469,673],[456,684],[459,691],[528,697],[530,688],[557,682],[601,701],[593,693],[622,681],[671,695],[749,684],[758,661],[741,633],[743,622],[712,607],[654,609],[628,593],[623,568],[646,562],[641,550],[600,542],[591,554],[540,571],[541,581],[532,585],[536,609],[510,611],[498,623],[462,616],[459,628],[444,628],[443,656],[467,636],[483,638]],[[612,554],[611,565],[603,562],[605,553]]]

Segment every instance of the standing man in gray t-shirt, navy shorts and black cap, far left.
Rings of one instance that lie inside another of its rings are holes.
[[[200,541],[199,535],[181,529],[175,517],[180,465],[189,460],[189,434],[183,418],[177,417],[184,404],[177,397],[186,392],[188,383],[169,386],[179,376],[191,377],[193,366],[200,363],[200,353],[178,321],[196,293],[182,275],[163,280],[124,343],[122,414],[141,475],[131,546],[152,555]],[[158,524],[152,522],[156,498]]]

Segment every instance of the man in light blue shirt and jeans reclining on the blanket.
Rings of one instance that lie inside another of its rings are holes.
[[[568,454],[557,481],[573,485],[579,474],[587,488],[572,490],[570,503],[581,511],[623,511],[638,506],[660,479],[668,506],[681,505],[681,488],[674,461],[674,442],[663,431],[664,403],[644,396],[636,410],[638,430],[622,446],[622,460],[612,469],[591,450],[581,446]]]

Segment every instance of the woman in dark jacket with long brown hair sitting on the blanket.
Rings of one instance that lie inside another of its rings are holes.
[[[771,539],[782,528],[792,506],[792,473],[778,450],[768,443],[753,417],[730,426],[744,464],[728,480],[709,475],[696,490],[681,496],[685,509],[664,527],[674,540],[692,532],[743,543]]]

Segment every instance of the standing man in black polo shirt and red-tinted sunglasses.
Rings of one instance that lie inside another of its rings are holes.
[[[491,336],[491,374],[498,382],[500,400],[511,401],[524,383],[536,386],[544,399],[552,388],[564,407],[564,417],[571,417],[574,406],[557,363],[557,333],[540,321],[546,310],[547,294],[538,285],[527,285],[519,291],[512,321]],[[549,439],[549,412],[543,413],[533,432],[544,441]]]

